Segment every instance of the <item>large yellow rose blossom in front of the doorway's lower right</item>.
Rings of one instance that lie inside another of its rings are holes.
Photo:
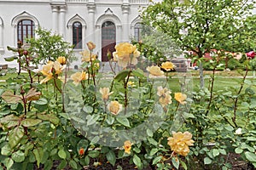
[[[129,42],[121,42],[114,48],[116,51],[113,52],[113,60],[116,60],[119,66],[125,68],[127,65],[137,65],[137,58],[141,53],[137,51],[136,45],[132,45]]]

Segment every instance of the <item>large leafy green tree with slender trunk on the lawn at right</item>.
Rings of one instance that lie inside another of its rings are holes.
[[[252,8],[249,0],[164,0],[149,5],[142,15],[145,24],[163,31],[202,61],[211,49],[245,52],[255,47]],[[200,77],[203,88],[202,62]]]

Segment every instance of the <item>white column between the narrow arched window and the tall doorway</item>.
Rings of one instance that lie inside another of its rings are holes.
[[[87,4],[87,8],[88,8],[88,27],[87,27],[87,34],[86,34],[86,41],[87,42],[95,42],[95,8],[96,5],[95,3],[88,3]]]

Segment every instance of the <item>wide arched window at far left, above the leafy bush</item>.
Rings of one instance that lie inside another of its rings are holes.
[[[23,44],[26,39],[35,37],[35,24],[32,20],[20,20],[18,23],[18,40]]]

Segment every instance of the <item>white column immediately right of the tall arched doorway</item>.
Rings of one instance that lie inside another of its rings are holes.
[[[122,33],[122,40],[125,42],[129,41],[129,9],[130,9],[130,4],[129,3],[123,3],[122,5],[122,11],[123,11],[123,33]]]

